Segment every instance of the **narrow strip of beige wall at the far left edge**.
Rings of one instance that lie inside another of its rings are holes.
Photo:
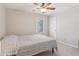
[[[0,6],[0,39],[5,36],[5,8]],[[1,55],[1,41],[0,41],[0,55]]]

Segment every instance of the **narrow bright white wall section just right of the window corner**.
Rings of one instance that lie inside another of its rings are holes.
[[[56,15],[49,16],[49,36],[56,39]]]

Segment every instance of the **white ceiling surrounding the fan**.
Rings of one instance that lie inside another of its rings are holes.
[[[6,8],[42,14],[39,11],[33,11],[35,5],[32,3],[4,3],[1,5],[3,5]],[[53,13],[60,13],[60,12],[63,12],[65,10],[73,7],[73,6],[77,6],[79,4],[77,4],[77,3],[54,3],[54,5],[56,6],[56,10],[47,12],[45,15],[51,15]]]

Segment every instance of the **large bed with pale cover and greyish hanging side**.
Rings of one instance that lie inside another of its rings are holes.
[[[56,40],[41,34],[9,35],[1,42],[1,52],[4,56],[32,56],[40,52],[57,48]]]

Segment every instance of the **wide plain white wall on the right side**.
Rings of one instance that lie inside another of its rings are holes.
[[[78,47],[79,7],[75,6],[57,14],[57,40],[67,45]]]

